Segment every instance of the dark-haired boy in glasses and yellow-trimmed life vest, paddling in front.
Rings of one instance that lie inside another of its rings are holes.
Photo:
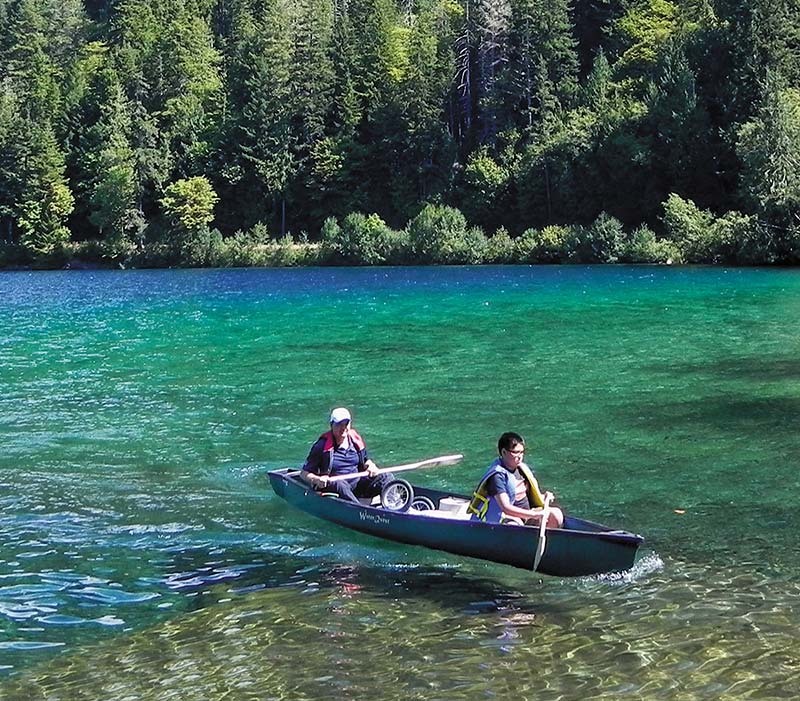
[[[512,518],[517,522],[540,524],[545,499],[549,495],[552,500],[553,495],[551,492],[542,494],[533,470],[523,462],[525,439],[508,431],[500,436],[497,451],[499,457],[486,470],[472,495],[468,508],[472,519],[500,523],[504,518]],[[563,512],[551,506],[547,527],[563,525]]]

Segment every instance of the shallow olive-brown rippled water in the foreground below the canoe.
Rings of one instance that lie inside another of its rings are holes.
[[[217,585],[202,610],[29,670],[3,698],[800,695],[800,585],[671,569],[509,590],[457,570],[310,566],[270,589]]]

